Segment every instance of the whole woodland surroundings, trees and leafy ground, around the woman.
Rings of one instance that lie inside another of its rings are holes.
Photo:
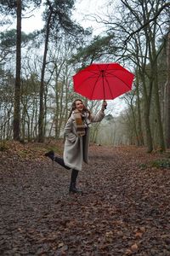
[[[170,3],[103,0],[86,16],[98,35],[75,21],[75,3],[0,0],[0,254],[167,256]],[[35,9],[44,27],[26,34]],[[122,112],[108,101],[93,125],[83,194],[71,195],[71,172],[44,154],[62,154],[72,75],[93,62],[119,62],[135,79]]]

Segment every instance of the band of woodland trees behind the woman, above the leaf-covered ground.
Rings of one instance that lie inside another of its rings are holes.
[[[119,62],[135,74],[133,90],[122,96],[121,113],[114,114],[113,102],[104,121],[93,126],[91,141],[165,151],[170,147],[170,3],[105,1],[105,13],[86,17],[102,27],[97,36],[75,21],[75,3],[0,1],[1,148],[10,139],[42,143],[62,137],[77,97],[72,75],[93,62]],[[22,20],[42,7],[42,30],[35,24],[34,32],[23,32]],[[83,100],[93,113],[99,111],[101,102]]]

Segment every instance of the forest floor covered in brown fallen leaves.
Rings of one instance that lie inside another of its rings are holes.
[[[170,255],[170,153],[92,145],[72,195],[50,148],[63,144],[0,152],[0,255]]]

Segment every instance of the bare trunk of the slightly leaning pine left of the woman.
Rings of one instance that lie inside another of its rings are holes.
[[[41,76],[41,84],[40,84],[40,107],[39,107],[39,119],[38,119],[38,142],[43,143],[44,140],[44,75],[45,75],[45,67],[46,67],[46,59],[48,54],[48,38],[50,31],[50,21],[51,21],[52,11],[49,13],[48,22],[46,26],[46,38],[45,38],[45,47],[43,53],[43,61],[42,61],[42,76]]]

